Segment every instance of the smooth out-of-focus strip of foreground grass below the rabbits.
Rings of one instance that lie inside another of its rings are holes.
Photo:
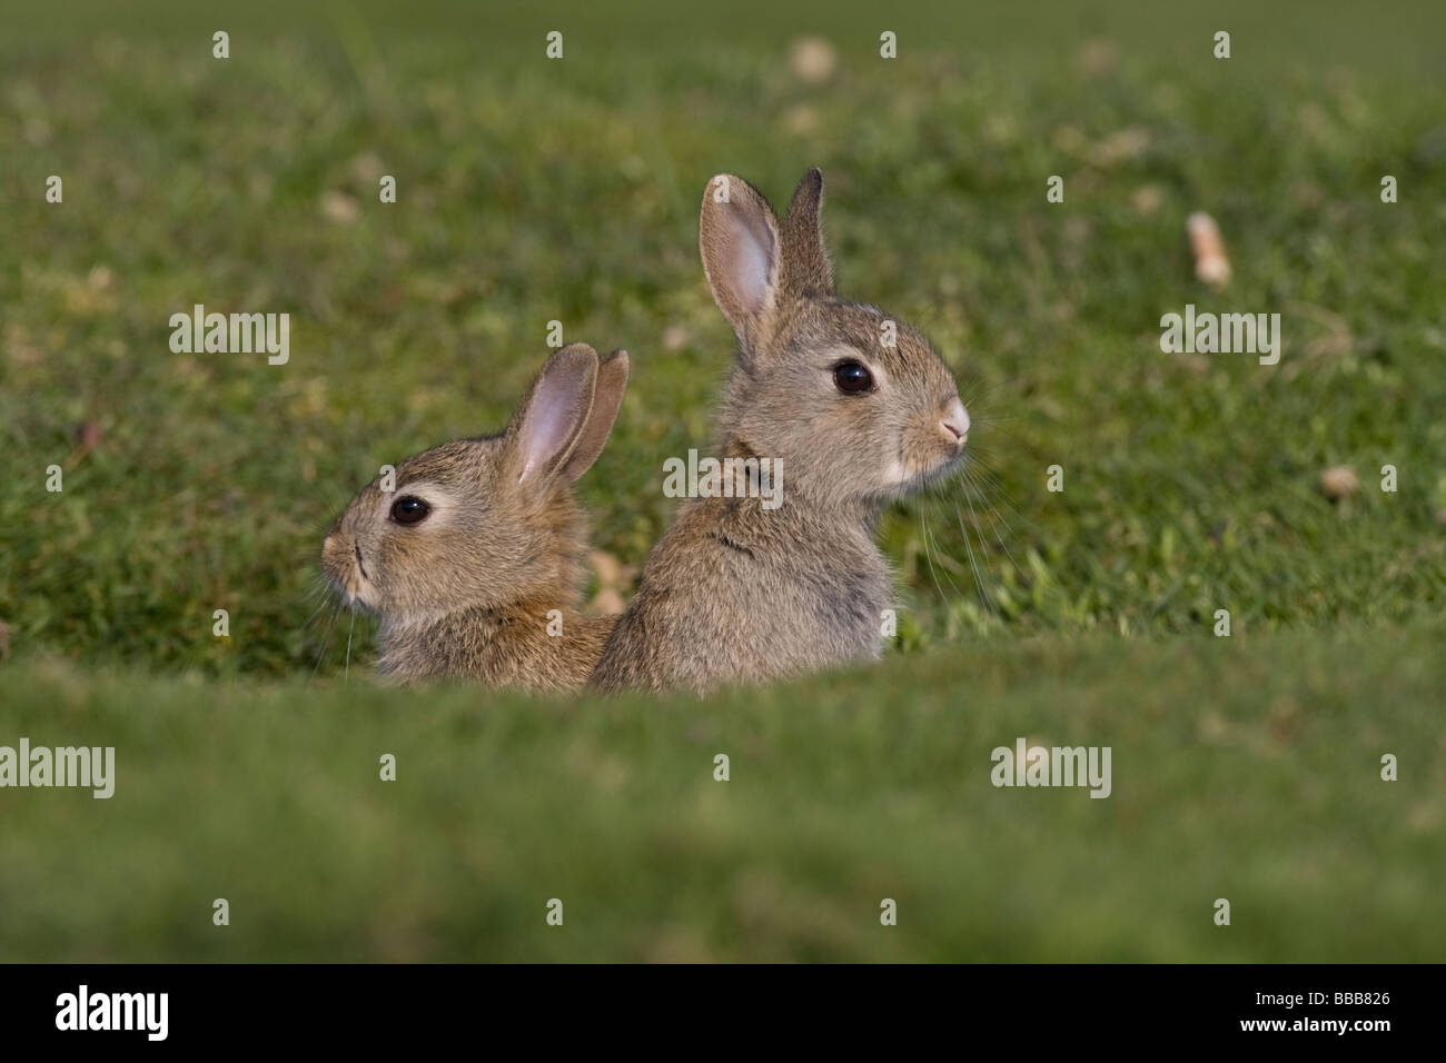
[[[32,662],[7,727],[113,745],[116,795],[0,791],[0,957],[1439,960],[1442,635],[1024,639],[602,709]],[[1017,736],[1111,746],[1112,795],[993,788]]]

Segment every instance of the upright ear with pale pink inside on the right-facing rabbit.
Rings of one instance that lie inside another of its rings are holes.
[[[745,351],[766,327],[778,296],[778,218],[742,178],[719,174],[703,194],[698,250],[713,301]]]

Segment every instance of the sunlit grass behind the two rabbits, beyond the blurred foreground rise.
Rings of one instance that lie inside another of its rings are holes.
[[[709,440],[729,364],[697,262],[703,184],[730,169],[782,198],[811,162],[842,291],[930,331],[992,470],[972,509],[956,484],[885,524],[905,648],[1183,632],[1220,607],[1262,626],[1440,610],[1446,94],[1404,59],[1267,64],[1238,30],[1236,59],[1210,59],[1206,33],[1193,61],[1161,62],[1176,29],[1128,51],[1076,35],[1067,62],[1047,38],[1025,65],[936,30],[897,62],[843,52],[810,85],[785,40],[749,33],[659,52],[619,16],[606,49],[548,62],[541,38],[495,32],[477,62],[425,23],[393,38],[346,10],[239,33],[224,62],[208,38],[103,19],[64,51],[7,45],[0,620],[14,646],[309,668],[320,529],[380,464],[499,427],[551,320],[633,351],[583,495],[599,545],[641,561],[671,513],[662,458]],[[1332,20],[1317,22],[1320,48]],[[62,205],[43,202],[52,172]],[[1398,204],[1379,202],[1385,172]],[[382,174],[395,205],[377,202]],[[1050,174],[1064,204],[1045,202]],[[1232,253],[1223,294],[1190,273],[1196,208]],[[291,363],[172,354],[169,315],[195,302],[289,311]],[[1186,302],[1280,312],[1283,363],[1161,354],[1158,318]],[[85,422],[90,453],[72,440]],[[64,495],[43,490],[51,463]],[[1056,463],[1061,495],[1044,489]],[[1397,495],[1377,489],[1387,463]],[[1333,464],[1365,483],[1343,505],[1316,489]],[[215,609],[230,641],[211,636]],[[338,664],[333,648],[322,667]]]

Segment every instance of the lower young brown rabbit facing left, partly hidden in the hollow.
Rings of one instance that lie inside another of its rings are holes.
[[[599,363],[586,343],[564,347],[505,432],[406,458],[395,490],[377,477],[337,518],[321,564],[351,607],[380,616],[383,674],[587,681],[617,618],[577,612],[586,526],[571,483],[607,443],[626,386],[626,351]]]

